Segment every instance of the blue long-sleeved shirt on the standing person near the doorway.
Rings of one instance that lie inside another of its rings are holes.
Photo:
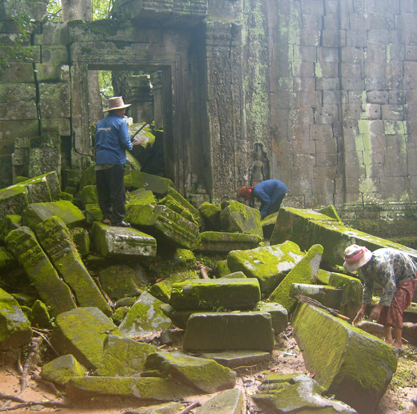
[[[97,122],[95,129],[96,164],[126,165],[126,149],[131,150],[126,121],[113,113]]]

